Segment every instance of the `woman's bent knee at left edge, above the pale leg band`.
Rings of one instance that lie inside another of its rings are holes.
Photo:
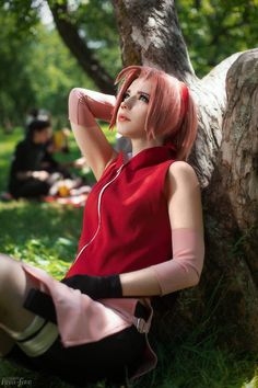
[[[0,323],[11,331],[22,332],[35,315],[23,308],[28,290],[38,284],[26,276],[21,264],[0,254]]]

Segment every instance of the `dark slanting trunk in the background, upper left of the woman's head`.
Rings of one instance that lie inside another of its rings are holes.
[[[103,93],[114,94],[114,79],[96,59],[93,50],[87,47],[86,41],[81,38],[79,27],[70,21],[67,1],[61,3],[48,1],[48,4],[63,43],[78,59],[83,70]]]

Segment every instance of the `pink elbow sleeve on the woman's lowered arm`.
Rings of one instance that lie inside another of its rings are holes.
[[[173,259],[152,265],[161,295],[198,284],[204,259],[203,235],[181,228],[172,230]]]

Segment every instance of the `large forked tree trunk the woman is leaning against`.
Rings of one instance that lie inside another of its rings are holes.
[[[159,300],[154,330],[162,336],[169,327],[177,336],[198,323],[200,333],[216,328],[234,350],[257,350],[258,49],[231,56],[199,80],[174,1],[114,0],[114,7],[124,64],[178,77],[199,105],[189,161],[203,189],[206,265],[200,284],[181,292],[174,308],[173,296]]]

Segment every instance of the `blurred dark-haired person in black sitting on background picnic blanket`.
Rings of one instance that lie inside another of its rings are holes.
[[[14,198],[37,198],[56,195],[59,186],[68,191],[82,185],[67,168],[58,163],[48,150],[51,125],[47,119],[34,119],[25,138],[15,148],[10,169],[8,190]]]

